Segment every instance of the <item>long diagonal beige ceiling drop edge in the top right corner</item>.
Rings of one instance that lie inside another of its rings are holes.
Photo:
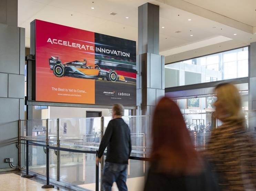
[[[158,2],[170,5],[172,7],[193,13],[198,16],[202,16],[206,19],[216,21],[218,23],[222,23],[224,25],[239,29],[241,31],[250,33],[250,34],[256,34],[256,29],[254,26],[250,26],[248,24],[236,21],[234,19],[231,19],[227,16],[218,14],[216,12],[204,9],[202,7],[199,7],[197,5],[194,5],[192,3],[186,2],[184,0],[157,0]]]

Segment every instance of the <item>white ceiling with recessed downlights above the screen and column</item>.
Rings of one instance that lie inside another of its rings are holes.
[[[184,1],[251,26],[256,26],[256,0]],[[234,39],[232,41],[236,44],[225,42],[227,43],[226,48],[242,46],[240,43],[249,44],[256,41],[256,35],[171,7],[164,4],[164,0],[18,0],[18,26],[25,28],[26,41],[30,37],[30,22],[39,19],[135,40],[137,43],[138,7],[146,2],[160,5],[160,51],[193,44],[217,36]],[[91,7],[95,9],[91,9]],[[252,8],[254,11],[252,11]],[[117,14],[113,16],[109,14],[111,12]],[[126,19],[126,16],[129,19]],[[188,19],[191,19],[191,21],[188,21]],[[165,28],[162,28],[162,26]],[[181,33],[175,33],[175,31],[181,31]],[[216,45],[217,49],[219,46],[221,48],[225,47],[225,43]],[[210,47],[215,51],[215,46]],[[200,49],[200,51],[204,50],[204,48]]]

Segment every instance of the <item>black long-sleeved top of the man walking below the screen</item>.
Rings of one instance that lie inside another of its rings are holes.
[[[122,118],[110,120],[101,140],[98,157],[100,158],[107,147],[106,162],[128,164],[132,150],[131,133]]]

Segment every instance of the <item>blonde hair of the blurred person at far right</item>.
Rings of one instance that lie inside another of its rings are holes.
[[[218,84],[215,87],[218,102],[226,110],[225,121],[243,121],[245,119],[242,112],[241,96],[238,89],[230,83]]]

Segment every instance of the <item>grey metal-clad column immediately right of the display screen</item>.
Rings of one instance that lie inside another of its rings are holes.
[[[153,115],[164,96],[164,56],[159,55],[159,6],[139,7],[137,56],[137,115]]]

